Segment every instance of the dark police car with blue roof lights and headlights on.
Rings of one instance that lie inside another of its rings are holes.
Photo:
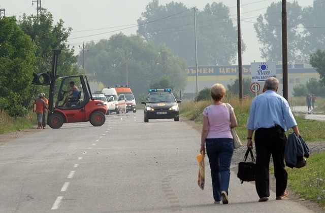
[[[174,119],[179,121],[178,103],[172,93],[172,89],[150,89],[144,104],[144,122],[149,119]]]

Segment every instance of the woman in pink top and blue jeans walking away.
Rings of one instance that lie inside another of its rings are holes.
[[[214,203],[228,203],[230,164],[234,153],[233,136],[230,128],[237,126],[234,109],[230,111],[222,98],[225,88],[214,84],[211,88],[213,104],[203,111],[201,149],[205,153],[205,144],[211,168]]]

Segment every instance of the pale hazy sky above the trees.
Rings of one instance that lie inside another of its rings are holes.
[[[294,2],[286,1],[287,3]],[[113,34],[119,32],[126,35],[136,34],[137,20],[141,17],[141,13],[145,12],[146,6],[150,2],[151,0],[41,0],[41,7],[52,13],[55,23],[62,19],[65,27],[73,28],[68,42],[76,47],[76,53],[78,53],[83,42],[84,44],[90,41],[96,43],[101,39],[109,39]],[[170,2],[172,1],[159,0],[160,5]],[[188,8],[197,7],[199,10],[203,10],[207,4],[223,2],[230,8],[231,18],[234,26],[237,27],[237,0],[174,0],[174,2],[181,2]],[[282,0],[240,0],[241,32],[242,39],[246,44],[246,51],[242,55],[243,65],[254,61],[264,61],[259,54],[259,48],[262,46],[258,44],[253,24],[256,22],[256,18],[260,14],[264,14],[273,2],[282,2]],[[313,4],[313,0],[296,0],[296,2],[303,8]],[[37,1],[0,0],[0,9],[5,9],[6,16],[16,16],[17,18],[23,13],[37,15]],[[281,13],[279,13],[280,18]],[[200,65],[200,59],[198,59],[198,64]]]

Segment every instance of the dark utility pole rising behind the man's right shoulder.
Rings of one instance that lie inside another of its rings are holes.
[[[288,46],[286,23],[286,0],[282,0],[282,76],[283,97],[288,100]]]

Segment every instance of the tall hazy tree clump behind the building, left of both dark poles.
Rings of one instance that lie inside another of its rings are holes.
[[[237,29],[230,10],[222,3],[207,4],[196,12],[198,61],[204,65],[232,64],[237,57]],[[196,61],[194,48],[193,10],[182,3],[165,6],[158,0],[150,2],[138,19],[138,34],[145,41],[166,44],[188,64]],[[242,43],[242,50],[245,44]]]

